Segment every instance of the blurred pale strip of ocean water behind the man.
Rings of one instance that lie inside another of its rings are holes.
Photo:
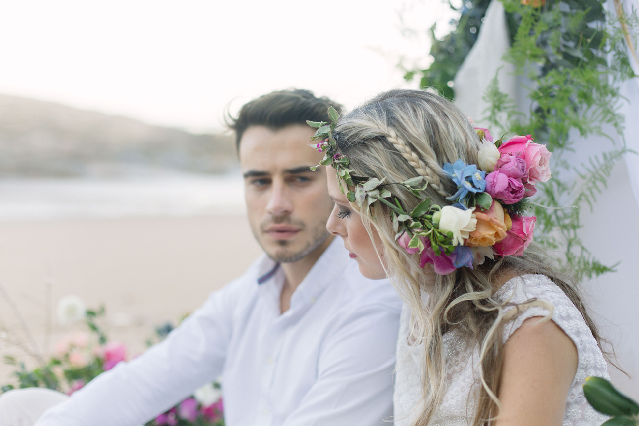
[[[0,179],[0,220],[245,214],[239,172]]]

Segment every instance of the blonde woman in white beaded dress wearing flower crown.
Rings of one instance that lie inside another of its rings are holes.
[[[382,93],[317,137],[333,166],[328,230],[406,302],[396,425],[605,420],[581,390],[607,377],[597,330],[522,214],[550,178],[543,146],[530,135],[493,145],[451,102],[412,90]]]

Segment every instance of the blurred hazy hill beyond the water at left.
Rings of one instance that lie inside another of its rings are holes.
[[[120,174],[140,168],[222,173],[237,165],[230,135],[194,134],[0,95],[0,177]]]

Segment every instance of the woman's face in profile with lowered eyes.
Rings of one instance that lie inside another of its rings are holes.
[[[351,259],[357,261],[360,272],[364,277],[373,280],[386,278],[386,271],[375,247],[382,250],[381,238],[374,226],[371,226],[373,241],[362,222],[362,217],[357,211],[351,209],[351,203],[346,195],[339,190],[339,184],[335,179],[335,170],[328,166],[328,195],[335,203],[333,211],[328,217],[326,227],[328,232],[340,236],[344,240],[344,247],[350,251]]]

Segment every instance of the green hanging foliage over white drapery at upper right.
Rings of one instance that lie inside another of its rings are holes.
[[[472,48],[476,34],[470,30],[481,24],[477,17],[484,15],[488,3],[465,1],[456,29],[442,40],[433,37],[433,64],[425,70],[408,70],[406,78],[421,76],[420,86],[441,87],[452,98],[454,91],[447,82]],[[495,77],[484,93],[489,105],[486,119],[497,128],[493,131],[532,133],[535,142],[546,144],[553,153],[553,179],[541,186],[535,200],[541,242],[564,250],[567,264],[580,278],[613,271],[616,265],[594,259],[578,230],[581,209],[593,208],[613,166],[628,153],[624,118],[619,114],[624,99],[618,87],[634,75],[619,19],[605,15],[603,0],[548,0],[541,7],[521,0],[502,3],[511,38],[511,49],[503,59],[529,82],[529,107],[518,110],[514,100],[500,91]],[[624,23],[631,33],[639,27],[636,15]],[[609,128],[612,135],[606,133]],[[569,164],[566,153],[578,149],[573,139],[577,135],[604,137],[610,146],[601,146],[601,152],[585,164]],[[617,140],[621,142],[615,144]],[[564,178],[567,175],[579,178],[573,181]]]

